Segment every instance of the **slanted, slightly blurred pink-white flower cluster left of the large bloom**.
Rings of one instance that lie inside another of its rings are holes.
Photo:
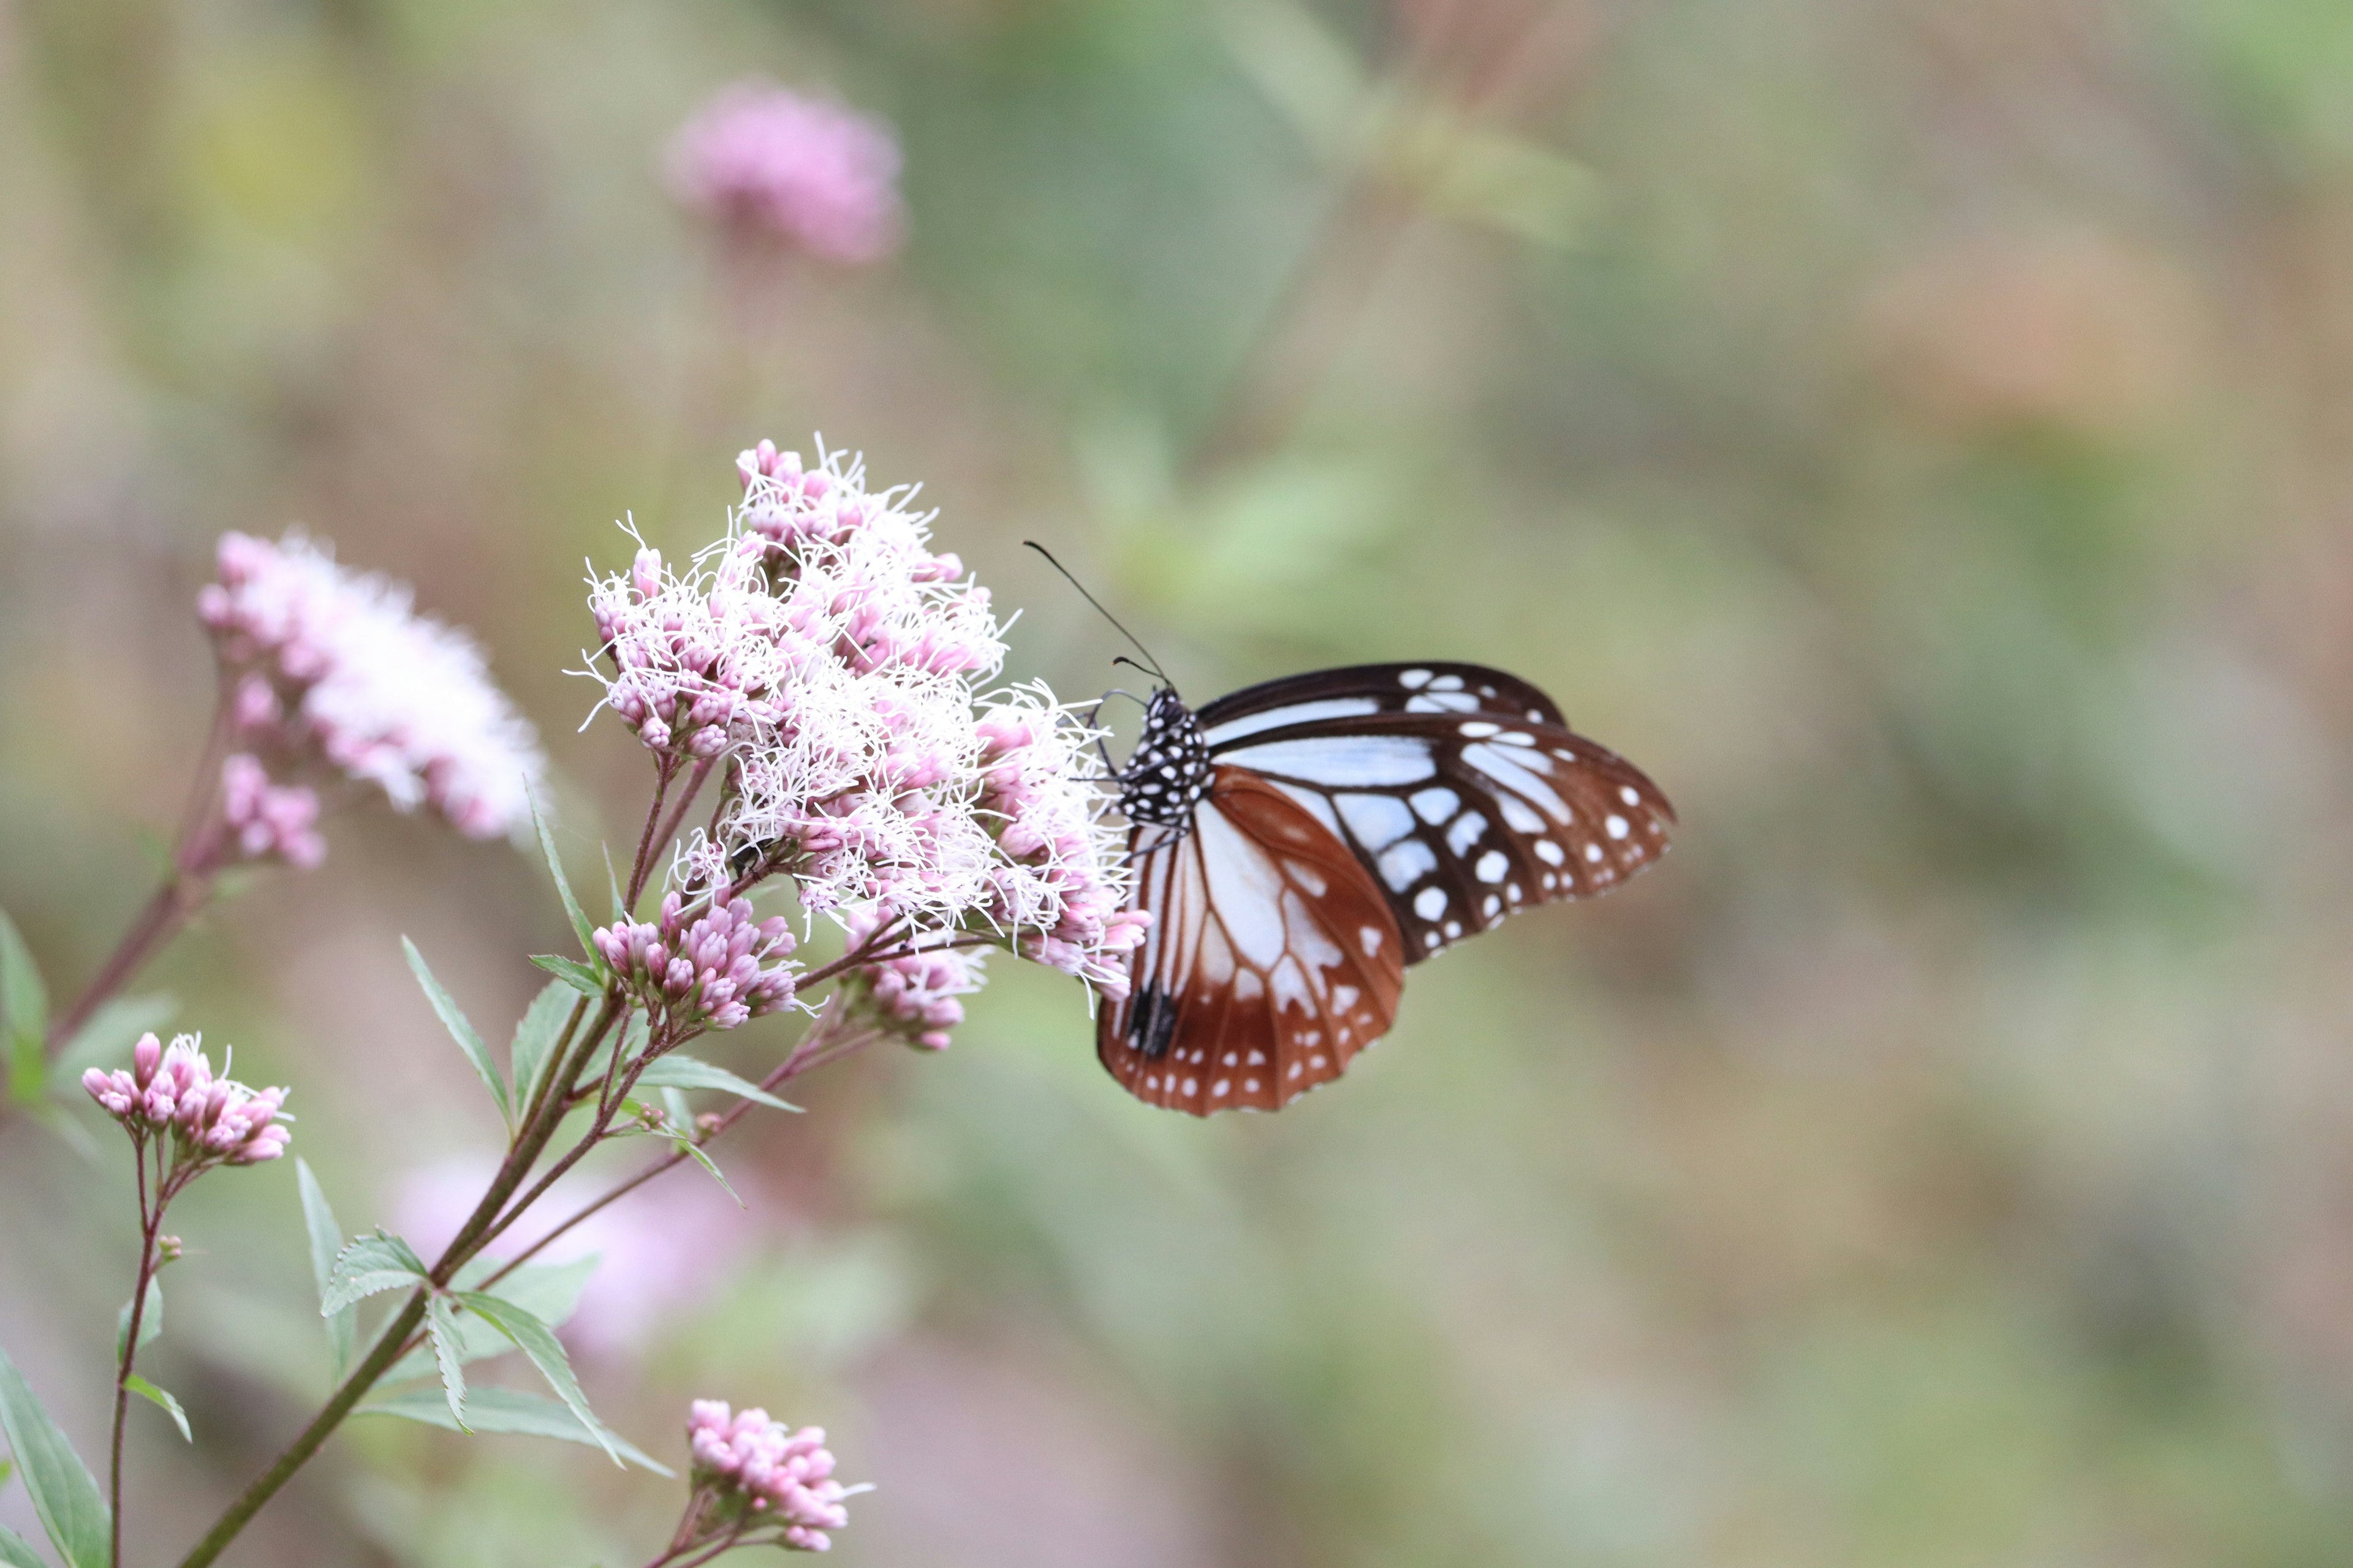
[[[400,811],[431,806],[471,837],[522,827],[546,762],[464,632],[414,614],[407,588],[336,567],[299,534],[278,543],[224,534],[219,571],[198,614],[235,677],[231,717],[247,752],[320,759]],[[285,853],[287,802],[256,795],[249,776],[242,783],[247,823],[278,823],[261,853]]]

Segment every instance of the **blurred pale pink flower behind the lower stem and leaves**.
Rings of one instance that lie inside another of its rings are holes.
[[[393,1229],[426,1258],[438,1258],[494,1173],[496,1161],[468,1154],[409,1171],[393,1197]],[[741,1178],[732,1180],[751,1197]],[[513,1258],[595,1192],[586,1182],[560,1185],[492,1251]],[[595,1211],[551,1241],[534,1262],[602,1255],[562,1335],[584,1354],[619,1359],[640,1352],[673,1314],[706,1302],[758,1237],[751,1213],[720,1192],[718,1182],[701,1171],[680,1168]]]

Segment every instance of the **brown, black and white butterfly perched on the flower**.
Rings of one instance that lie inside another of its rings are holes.
[[[1419,964],[1666,853],[1675,809],[1480,665],[1353,665],[1198,715],[1153,691],[1120,769],[1129,907],[1153,926],[1096,1051],[1132,1095],[1280,1110],[1388,1032]]]

